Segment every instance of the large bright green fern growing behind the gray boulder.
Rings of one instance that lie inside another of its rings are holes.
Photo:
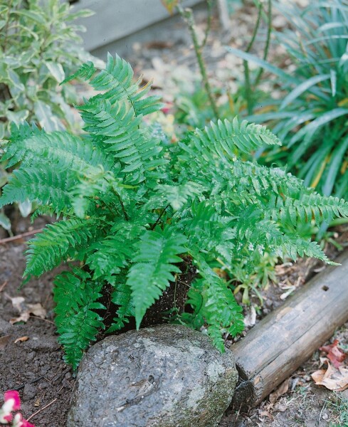
[[[13,125],[2,161],[20,167],[0,199],[0,206],[30,199],[40,205],[36,214],[60,218],[29,242],[26,278],[79,261],[54,288],[59,339],[74,369],[105,328],[106,306],[115,306],[107,332],[132,317],[139,328],[147,309],[180,280],[183,258],[196,278],[175,321],[205,326],[221,351],[223,334],[243,330],[243,316],[213,270],[216,260],[231,275],[241,263],[252,272],[248,260],[265,250],[330,262],[296,229],[312,218],[319,224],[348,216],[348,204],[306,189],[282,169],[243,161],[242,154],[280,144],[265,127],[235,117],[162,144],[146,118],[161,104],[125,60],[108,56],[103,70],[85,63],[65,81],[76,77],[99,91],[78,107],[85,133]]]

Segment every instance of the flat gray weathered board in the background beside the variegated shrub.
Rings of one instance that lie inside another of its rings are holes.
[[[194,6],[201,2],[186,0],[182,4]],[[75,11],[90,9],[95,12],[89,18],[76,21],[87,28],[81,36],[88,51],[130,36],[170,16],[161,0],[79,0],[73,6]]]

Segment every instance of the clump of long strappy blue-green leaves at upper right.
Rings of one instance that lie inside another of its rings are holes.
[[[268,102],[268,112],[256,110],[249,116],[268,122],[285,144],[286,149],[270,149],[265,162],[288,165],[305,185],[326,196],[347,196],[348,2],[312,1],[305,9],[295,3],[273,4],[291,26],[275,32],[290,58],[291,72],[228,48],[275,75],[283,91],[280,100]]]

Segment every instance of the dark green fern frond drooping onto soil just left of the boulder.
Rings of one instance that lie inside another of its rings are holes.
[[[92,282],[88,273],[75,269],[75,274],[61,273],[54,280],[58,341],[64,347],[64,360],[75,370],[84,350],[104,329],[102,317],[93,310],[105,310],[97,300],[102,297],[102,284]]]

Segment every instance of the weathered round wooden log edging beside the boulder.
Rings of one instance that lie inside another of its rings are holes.
[[[231,346],[240,381],[233,406],[260,404],[348,321],[348,251]]]

